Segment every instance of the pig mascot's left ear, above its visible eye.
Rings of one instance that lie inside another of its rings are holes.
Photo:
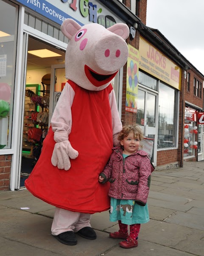
[[[81,28],[81,26],[72,19],[66,19],[61,25],[62,34],[65,35],[69,40],[73,35]]]

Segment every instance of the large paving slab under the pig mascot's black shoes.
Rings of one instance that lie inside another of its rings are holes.
[[[0,236],[29,246],[59,253],[60,255],[99,255],[116,246],[117,241],[109,239],[108,233],[96,230],[96,240],[77,236],[77,246],[67,246],[51,235],[52,219],[16,209],[0,211]],[[83,254],[82,254],[83,252]]]

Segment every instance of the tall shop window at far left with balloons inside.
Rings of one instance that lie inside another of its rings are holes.
[[[0,0],[0,149],[11,148],[18,9]]]

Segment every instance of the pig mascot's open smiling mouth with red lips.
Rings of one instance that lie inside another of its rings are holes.
[[[101,75],[99,73],[96,73],[94,70],[92,70],[90,67],[85,65],[84,67],[86,77],[91,82],[91,84],[94,84],[94,86],[99,87],[104,84],[107,84],[110,82],[114,76],[116,76],[117,72],[113,73],[112,75]]]

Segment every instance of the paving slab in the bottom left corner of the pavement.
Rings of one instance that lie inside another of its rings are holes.
[[[45,249],[39,249],[31,245],[10,241],[0,237],[0,255],[1,256],[60,256]]]

